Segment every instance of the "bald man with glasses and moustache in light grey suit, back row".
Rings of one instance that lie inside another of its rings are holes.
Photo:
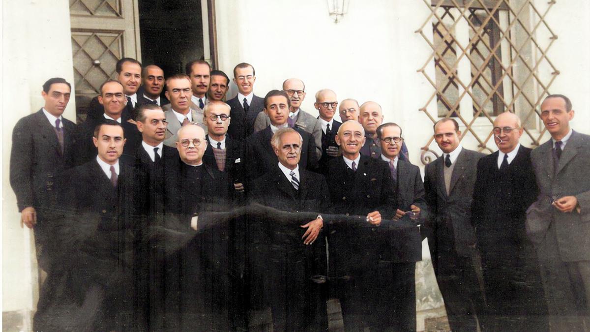
[[[305,99],[305,84],[300,79],[287,79],[283,82],[283,91],[289,96],[291,108],[287,124],[289,128],[299,128],[313,136],[316,145],[316,156],[322,157],[322,124],[313,115],[300,109]],[[254,121],[254,132],[266,129],[270,125],[270,118],[264,112],[258,113]]]

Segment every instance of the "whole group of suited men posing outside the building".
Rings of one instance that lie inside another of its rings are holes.
[[[336,298],[346,330],[415,330],[425,237],[451,330],[589,323],[589,138],[567,97],[542,103],[534,151],[513,113],[485,157],[441,119],[422,183],[376,102],[322,89],[315,118],[302,80],[261,98],[247,63],[227,102],[202,60],[116,70],[83,123],[54,78],[14,128],[11,185],[48,273],[35,329],[247,330],[268,311],[275,330],[326,330]]]

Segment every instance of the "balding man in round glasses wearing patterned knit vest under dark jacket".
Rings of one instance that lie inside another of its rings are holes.
[[[237,192],[244,191],[242,145],[226,135],[230,125],[230,105],[217,100],[205,105],[203,122],[207,123],[207,149],[203,162],[220,172],[227,172]]]

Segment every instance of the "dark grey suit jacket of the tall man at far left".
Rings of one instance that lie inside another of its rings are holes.
[[[63,153],[54,125],[47,121],[42,109],[20,119],[12,130],[10,184],[17,195],[18,211],[28,206],[53,206],[54,181],[76,161],[76,125],[62,119]]]

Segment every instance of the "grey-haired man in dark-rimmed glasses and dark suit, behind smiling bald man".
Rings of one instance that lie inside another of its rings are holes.
[[[330,89],[322,89],[316,93],[316,102],[313,104],[320,116],[317,121],[322,128],[322,158],[320,158],[319,172],[326,175],[328,162],[338,157],[339,150],[336,144],[336,133],[342,123],[334,119],[336,113],[336,93]]]

